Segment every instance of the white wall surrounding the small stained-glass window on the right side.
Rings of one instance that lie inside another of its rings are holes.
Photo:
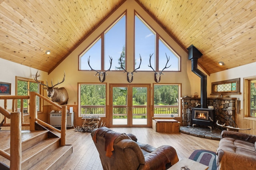
[[[241,100],[241,106],[240,108],[243,108],[243,88],[244,88],[244,78],[250,77],[250,76],[256,76],[256,62],[246,64],[243,66],[239,66],[236,68],[231,68],[228,70],[224,70],[221,72],[216,72],[210,75],[210,83],[212,82],[218,82],[223,80],[229,80],[233,78],[240,78],[240,95],[228,95],[232,98],[239,98]]]

